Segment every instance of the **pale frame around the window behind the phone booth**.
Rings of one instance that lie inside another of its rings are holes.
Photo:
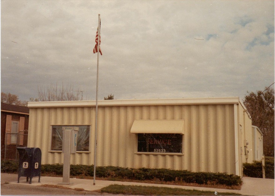
[[[51,132],[51,134],[49,135],[49,141],[50,141],[50,149],[49,149],[49,151],[48,152],[59,152],[59,153],[61,153],[62,152],[62,148],[59,150],[52,150],[53,149],[53,128],[54,128],[54,126],[60,126],[60,127],[63,127],[63,126],[66,126],[66,127],[80,127],[80,126],[87,126],[87,127],[89,127],[89,133],[88,133],[88,137],[89,137],[89,146],[88,146],[88,150],[76,150],[76,152],[77,153],[91,153],[91,125],[51,125],[50,126],[50,132]],[[63,137],[63,135],[62,135],[62,137]]]

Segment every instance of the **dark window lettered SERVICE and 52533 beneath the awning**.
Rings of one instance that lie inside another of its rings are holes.
[[[138,152],[182,153],[182,135],[138,133]]]

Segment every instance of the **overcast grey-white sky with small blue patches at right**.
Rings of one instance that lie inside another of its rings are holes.
[[[274,1],[1,0],[1,92],[243,99],[274,82]],[[274,85],[272,86],[274,88]]]

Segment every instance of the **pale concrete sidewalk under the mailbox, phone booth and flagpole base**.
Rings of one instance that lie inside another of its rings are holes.
[[[40,186],[43,184],[49,185],[61,185],[61,177],[47,177],[42,176],[40,183],[38,183],[38,177],[32,178],[32,184],[26,182],[26,177],[20,178],[19,184],[30,185],[30,186]],[[148,184],[148,183],[134,183],[134,182],[119,182],[119,181],[107,181],[107,180],[96,180],[96,185],[93,185],[93,180],[70,178],[70,185],[61,185],[69,188],[83,188],[86,191],[95,191],[103,187],[109,186],[111,184],[120,185],[136,185],[136,186],[155,186],[155,187],[170,187],[170,188],[184,188],[184,189],[196,189],[203,191],[212,191],[218,193],[237,193],[242,195],[274,195],[274,179],[263,179],[263,178],[248,178],[243,177],[243,186],[241,190],[231,190],[231,189],[219,189],[219,188],[205,188],[205,187],[191,187],[191,186],[178,186],[178,185],[166,185],[166,184]],[[11,182],[11,184],[18,184],[17,182]]]

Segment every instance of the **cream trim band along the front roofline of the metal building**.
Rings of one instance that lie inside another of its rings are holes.
[[[146,105],[201,105],[239,104],[239,97],[182,98],[182,99],[131,99],[101,100],[98,106],[146,106]],[[43,101],[28,102],[29,108],[96,106],[96,101]]]

